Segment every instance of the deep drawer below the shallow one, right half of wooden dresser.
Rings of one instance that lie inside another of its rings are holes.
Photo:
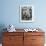
[[[24,42],[27,44],[43,44],[44,36],[24,36]]]

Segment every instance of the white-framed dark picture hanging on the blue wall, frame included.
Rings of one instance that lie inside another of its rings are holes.
[[[34,7],[33,5],[20,6],[20,22],[33,22],[34,21]]]

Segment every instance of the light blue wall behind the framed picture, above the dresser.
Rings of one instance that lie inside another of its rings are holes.
[[[41,27],[46,28],[46,0],[0,0],[1,15],[0,25],[13,24],[16,28]],[[19,6],[33,5],[35,21],[31,23],[21,23],[19,20]]]

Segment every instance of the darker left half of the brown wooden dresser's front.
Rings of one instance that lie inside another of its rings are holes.
[[[3,36],[3,46],[22,46],[23,33],[6,32]]]

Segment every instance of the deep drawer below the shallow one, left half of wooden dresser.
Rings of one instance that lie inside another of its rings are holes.
[[[3,43],[13,43],[13,42],[23,41],[23,36],[4,36]]]

